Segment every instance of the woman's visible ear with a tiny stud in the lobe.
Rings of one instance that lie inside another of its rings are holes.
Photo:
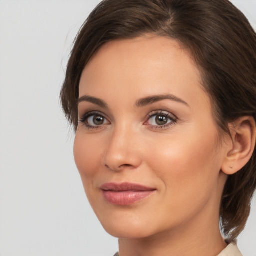
[[[255,147],[255,120],[252,116],[242,116],[229,123],[227,150],[221,170],[228,175],[240,170],[250,159]]]

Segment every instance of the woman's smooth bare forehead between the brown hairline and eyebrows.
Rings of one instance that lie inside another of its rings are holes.
[[[110,99],[117,93],[127,100],[172,93],[185,101],[204,97],[208,103],[199,69],[190,55],[176,40],[155,35],[105,43],[85,66],[80,96]]]

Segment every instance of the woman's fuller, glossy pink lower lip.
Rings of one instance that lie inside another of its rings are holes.
[[[115,205],[129,205],[145,199],[155,190],[149,191],[104,191],[103,195],[107,202]]]

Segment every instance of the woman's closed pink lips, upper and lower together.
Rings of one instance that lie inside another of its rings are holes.
[[[104,199],[114,205],[129,205],[145,199],[156,189],[134,183],[105,183],[100,186]]]

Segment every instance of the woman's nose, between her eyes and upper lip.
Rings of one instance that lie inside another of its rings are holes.
[[[136,169],[142,162],[138,134],[130,127],[116,127],[109,136],[103,164],[110,170]]]

